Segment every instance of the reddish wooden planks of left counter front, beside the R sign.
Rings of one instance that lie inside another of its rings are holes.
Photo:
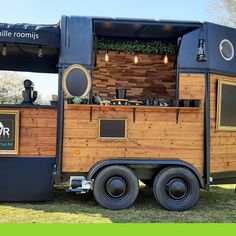
[[[15,108],[14,110],[20,111],[19,154],[7,156],[56,157],[57,109]],[[0,158],[5,156],[0,155]]]

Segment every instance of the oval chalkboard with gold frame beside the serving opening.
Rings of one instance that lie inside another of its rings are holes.
[[[63,88],[66,95],[87,96],[91,89],[89,71],[81,65],[69,66],[63,75]]]

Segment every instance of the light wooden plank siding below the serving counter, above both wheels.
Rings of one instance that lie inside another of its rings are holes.
[[[182,75],[180,81],[187,89],[193,88],[192,98],[204,104],[204,75]],[[186,79],[187,78],[187,79]],[[180,90],[180,96],[186,98]],[[196,93],[196,96],[194,96]],[[179,158],[193,164],[203,173],[204,109],[67,105],[64,111],[63,173],[88,172],[97,162],[111,158]],[[99,118],[126,118],[127,139],[103,141],[98,139]]]

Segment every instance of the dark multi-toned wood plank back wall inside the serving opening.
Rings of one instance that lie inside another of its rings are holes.
[[[138,55],[138,64],[129,53],[109,52],[109,62],[104,57],[105,52],[99,51],[93,81],[93,91],[102,97],[112,99],[115,89],[124,87],[129,98],[175,98],[175,56],[168,56],[168,64],[163,63],[161,55]]]

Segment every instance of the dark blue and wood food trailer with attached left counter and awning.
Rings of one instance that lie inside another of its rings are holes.
[[[235,29],[208,22],[0,24],[0,70],[58,74],[53,105],[30,80],[21,104],[0,105],[0,201],[47,201],[69,180],[123,209],[142,181],[180,211],[236,183],[235,46]]]

